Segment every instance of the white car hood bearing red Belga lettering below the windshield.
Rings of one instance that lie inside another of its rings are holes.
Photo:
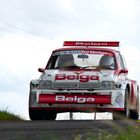
[[[52,82],[101,82],[114,81],[114,70],[45,70],[40,80]]]

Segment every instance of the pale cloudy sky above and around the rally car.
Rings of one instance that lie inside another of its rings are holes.
[[[28,119],[29,83],[65,40],[120,41],[140,83],[139,0],[0,0],[0,108]]]

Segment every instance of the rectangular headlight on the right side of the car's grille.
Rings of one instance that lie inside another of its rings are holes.
[[[101,89],[114,89],[114,82],[113,81],[103,81],[100,84]]]

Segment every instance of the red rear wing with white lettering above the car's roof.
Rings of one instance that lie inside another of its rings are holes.
[[[64,41],[63,46],[119,47],[118,41]]]

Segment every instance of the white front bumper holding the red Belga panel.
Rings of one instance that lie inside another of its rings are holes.
[[[125,90],[32,90],[29,108],[47,110],[124,110]]]

